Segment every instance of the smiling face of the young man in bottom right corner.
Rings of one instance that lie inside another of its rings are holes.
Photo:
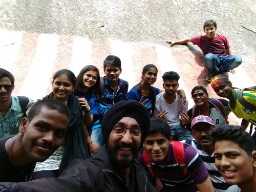
[[[243,184],[252,178],[253,159],[235,142],[215,143],[215,164],[228,184]]]

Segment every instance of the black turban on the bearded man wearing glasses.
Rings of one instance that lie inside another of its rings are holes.
[[[124,100],[112,105],[102,119],[103,143],[108,142],[114,125],[123,117],[131,117],[137,121],[142,131],[141,140],[144,141],[150,128],[150,117],[144,106],[138,101]]]

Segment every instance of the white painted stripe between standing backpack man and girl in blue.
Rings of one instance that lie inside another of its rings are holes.
[[[121,59],[122,73],[120,78],[129,82],[129,90],[135,86],[133,71],[133,44],[119,40],[111,41],[111,54]],[[128,91],[129,91],[128,90]]]

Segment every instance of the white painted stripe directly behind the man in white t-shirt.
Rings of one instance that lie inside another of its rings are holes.
[[[158,63],[161,68],[160,70],[162,71],[163,74],[167,71],[175,71],[180,75],[179,89],[183,89],[186,94],[186,97],[188,100],[188,109],[192,108],[195,103],[194,103],[193,99],[191,99],[189,97],[190,93],[186,89],[185,83],[184,83],[184,80],[188,80],[188,79],[186,79],[186,77],[185,77],[183,80],[180,70],[179,70],[178,66],[176,65],[176,60],[173,56],[172,50],[170,50],[167,47],[160,46],[160,45],[155,45],[155,47],[156,47],[156,52],[157,52],[157,57],[158,57]]]

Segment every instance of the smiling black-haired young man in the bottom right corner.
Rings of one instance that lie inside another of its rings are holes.
[[[251,136],[236,125],[223,125],[211,133],[215,164],[230,185],[227,192],[256,191],[256,147]]]

